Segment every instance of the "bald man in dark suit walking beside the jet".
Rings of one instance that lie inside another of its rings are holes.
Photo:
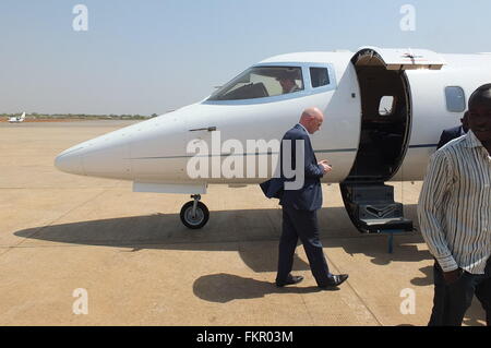
[[[299,123],[286,132],[282,140],[282,169],[285,141],[290,141],[292,169],[302,170],[303,182],[299,189],[288,189],[288,184],[295,182],[298,177],[285,178],[282,170],[280,178],[266,181],[261,187],[266,196],[279,197],[283,206],[283,232],[278,248],[278,272],[276,286],[300,283],[302,276],[290,274],[294,265],[294,254],[300,238],[306,250],[312,275],[320,288],[335,287],[348,278],[348,275],[333,275],[330,272],[324,256],[322,243],[319,239],[319,224],[316,211],[322,207],[321,178],[331,171],[326,160],[318,161],[310,142],[310,135],[316,132],[324,120],[322,111],[318,108],[308,108],[302,112]],[[303,158],[296,158],[297,141],[303,143]],[[303,159],[303,166],[302,166]],[[302,166],[302,167],[299,167]],[[301,177],[301,176],[300,176]]]

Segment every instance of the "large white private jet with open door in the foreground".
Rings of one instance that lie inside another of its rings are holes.
[[[296,87],[284,93],[282,75]],[[181,220],[201,228],[208,209],[200,202],[208,183],[258,184],[265,178],[193,179],[190,141],[280,140],[303,109],[325,115],[311,136],[318,158],[334,170],[345,207],[361,232],[411,230],[387,181],[422,180],[442,130],[459,124],[467,99],[491,82],[491,55],[439,55],[424,49],[363,47],[356,52],[297,52],[263,60],[206,99],[132,124],[62,152],[56,166],[75,175],[133,181],[135,192],[192,194]],[[209,157],[221,161],[230,152]],[[243,159],[266,153],[235,153]],[[218,163],[219,164],[219,163]]]

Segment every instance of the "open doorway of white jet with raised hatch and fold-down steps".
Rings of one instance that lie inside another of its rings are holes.
[[[355,164],[342,182],[348,215],[360,232],[408,231],[403,204],[385,184],[399,169],[411,130],[411,94],[406,70],[440,70],[429,50],[361,48],[351,59],[361,94],[360,142]]]

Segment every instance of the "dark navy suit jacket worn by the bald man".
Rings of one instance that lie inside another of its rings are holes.
[[[279,164],[282,165],[284,140],[291,141],[291,167],[297,168],[296,164],[296,141],[303,140],[304,144],[304,182],[299,190],[285,190],[285,181],[295,181],[285,178],[283,173],[280,178],[273,178],[261,184],[261,189],[267,197],[279,199],[279,204],[291,206],[299,211],[316,211],[322,206],[322,188],[321,178],[324,176],[322,166],[318,165],[318,159],[310,143],[310,137],[302,125],[296,124],[284,135],[282,140]]]

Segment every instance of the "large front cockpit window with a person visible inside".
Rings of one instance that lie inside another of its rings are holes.
[[[208,100],[242,100],[303,91],[299,67],[254,67],[215,92]]]

